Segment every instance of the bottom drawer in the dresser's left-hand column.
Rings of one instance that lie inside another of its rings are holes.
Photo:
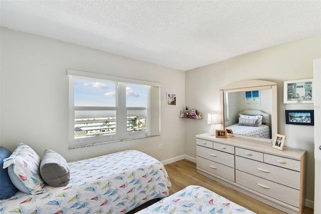
[[[196,166],[235,182],[234,168],[196,156]]]

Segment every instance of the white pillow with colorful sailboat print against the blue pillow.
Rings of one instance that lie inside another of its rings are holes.
[[[39,155],[24,143],[19,143],[12,155],[4,159],[4,169],[8,167],[11,181],[25,193],[44,192],[45,183],[40,176],[39,166]]]

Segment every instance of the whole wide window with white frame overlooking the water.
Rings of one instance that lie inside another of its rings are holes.
[[[160,83],[75,70],[68,75],[70,147],[159,135]]]

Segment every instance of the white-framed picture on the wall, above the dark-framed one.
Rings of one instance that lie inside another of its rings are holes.
[[[283,103],[313,103],[313,78],[284,81]]]

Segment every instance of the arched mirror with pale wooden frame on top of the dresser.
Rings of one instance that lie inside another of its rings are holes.
[[[226,85],[220,90],[220,102],[221,129],[232,132],[228,137],[272,143],[277,134],[275,82],[247,80]]]

